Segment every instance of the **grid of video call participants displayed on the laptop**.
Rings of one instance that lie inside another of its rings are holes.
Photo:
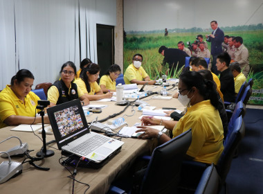
[[[77,105],[54,112],[54,116],[61,137],[84,127]]]

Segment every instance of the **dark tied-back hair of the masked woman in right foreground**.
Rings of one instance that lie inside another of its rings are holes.
[[[219,100],[217,98],[216,86],[213,81],[203,78],[201,73],[196,71],[182,73],[180,80],[188,89],[196,87],[199,90],[199,94],[203,96],[205,100],[210,100],[210,103],[215,109],[218,109]]]

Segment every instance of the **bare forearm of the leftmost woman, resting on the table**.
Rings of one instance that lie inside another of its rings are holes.
[[[35,120],[35,121],[34,121]],[[18,116],[18,115],[11,115],[3,121],[6,125],[20,125],[20,124],[36,124],[42,123],[41,116],[31,117],[31,116]],[[50,123],[48,116],[44,116],[44,123]]]

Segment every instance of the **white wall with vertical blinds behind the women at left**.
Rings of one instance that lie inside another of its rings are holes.
[[[0,89],[19,69],[37,85],[59,78],[66,61],[97,62],[96,24],[116,25],[116,0],[0,0]]]

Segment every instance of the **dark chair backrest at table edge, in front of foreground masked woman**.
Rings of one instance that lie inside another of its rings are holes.
[[[155,148],[143,177],[140,193],[176,193],[181,163],[191,142],[190,129]]]

